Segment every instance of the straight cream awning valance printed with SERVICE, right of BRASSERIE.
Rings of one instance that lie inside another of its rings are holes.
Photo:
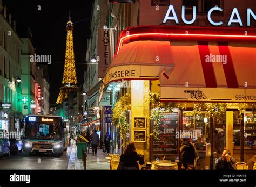
[[[255,103],[255,89],[160,87],[160,100],[172,102]]]

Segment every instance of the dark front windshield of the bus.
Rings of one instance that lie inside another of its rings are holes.
[[[60,122],[52,124],[26,123],[25,138],[36,140],[62,140]]]

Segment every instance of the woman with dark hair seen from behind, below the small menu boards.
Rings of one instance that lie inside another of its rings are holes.
[[[133,142],[128,142],[124,150],[124,153],[120,157],[120,162],[123,163],[123,169],[132,170],[139,169],[139,155],[136,152],[136,148]]]

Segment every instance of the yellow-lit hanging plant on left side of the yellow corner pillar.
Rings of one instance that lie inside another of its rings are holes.
[[[126,145],[128,138],[127,133],[129,132],[129,124],[127,122],[127,110],[129,110],[130,94],[126,93],[120,98],[113,109],[113,124],[120,126],[120,135],[123,139],[122,146]]]

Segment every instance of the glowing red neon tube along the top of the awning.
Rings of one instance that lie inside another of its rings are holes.
[[[255,35],[223,35],[223,34],[176,34],[176,33],[140,33],[140,34],[131,34],[131,35],[126,35],[125,37],[120,38],[120,42],[117,48],[117,54],[119,53],[119,49],[122,45],[122,42],[125,38],[129,37],[137,37],[137,36],[143,36],[143,35],[165,35],[167,37],[171,36],[187,36],[187,37],[227,37],[227,38],[256,38]]]

